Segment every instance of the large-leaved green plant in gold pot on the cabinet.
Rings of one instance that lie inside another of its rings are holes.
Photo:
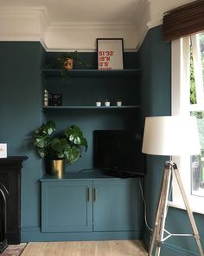
[[[73,164],[88,146],[81,129],[76,125],[66,128],[59,136],[54,136],[55,130],[54,121],[42,123],[34,131],[33,143],[37,154],[50,162],[51,174],[61,178],[65,174],[65,162]]]

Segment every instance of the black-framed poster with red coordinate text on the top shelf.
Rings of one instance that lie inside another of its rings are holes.
[[[124,69],[124,39],[97,38],[98,69]]]

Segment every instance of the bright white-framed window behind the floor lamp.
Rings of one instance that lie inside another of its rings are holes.
[[[172,42],[172,115],[197,117],[201,155],[182,155],[178,163],[193,211],[204,213],[204,33]],[[173,205],[182,207],[174,181]]]

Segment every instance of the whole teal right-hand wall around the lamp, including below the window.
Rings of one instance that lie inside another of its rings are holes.
[[[143,70],[141,82],[143,119],[145,116],[170,115],[171,106],[171,44],[163,43],[162,26],[149,30],[138,51],[139,67]],[[165,157],[147,155],[147,174],[144,181],[145,200],[147,201],[147,219],[154,226],[157,200],[163,175]],[[201,242],[204,245],[204,216],[194,213]],[[188,233],[187,213],[169,207],[167,229],[172,233]],[[150,231],[144,227],[146,244],[150,240]],[[172,251],[173,250],[173,251]],[[171,238],[163,246],[163,255],[197,255],[198,248],[194,238]],[[199,254],[198,254],[199,255]]]

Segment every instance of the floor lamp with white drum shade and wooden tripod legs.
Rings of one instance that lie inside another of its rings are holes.
[[[200,154],[200,142],[196,119],[193,116],[155,116],[146,117],[143,133],[143,153],[169,155],[170,159],[164,165],[163,181],[158,200],[156,221],[150,240],[149,256],[152,256],[156,242],[155,255],[159,256],[163,242],[171,236],[194,236],[197,246],[204,256],[197,226],[193,213],[188,204],[188,198],[182,185],[181,176],[176,163],[172,161],[173,155]],[[173,234],[165,229],[165,220],[168,211],[169,190],[172,186],[172,175],[178,183],[182,199],[185,204],[193,234]]]

